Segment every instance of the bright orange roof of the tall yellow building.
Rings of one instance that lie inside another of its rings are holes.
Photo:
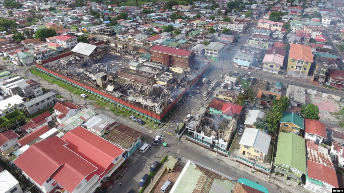
[[[289,58],[313,62],[312,48],[301,44],[290,44]]]

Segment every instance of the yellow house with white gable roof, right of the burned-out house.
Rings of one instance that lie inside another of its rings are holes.
[[[239,142],[239,152],[248,159],[263,161],[265,155],[268,154],[270,141],[270,135],[259,129],[246,127]]]

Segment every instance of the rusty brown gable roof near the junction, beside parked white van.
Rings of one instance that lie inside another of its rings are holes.
[[[131,144],[135,142],[142,135],[141,132],[128,127],[127,125],[120,124],[114,127],[106,136],[107,140],[120,145],[125,149],[129,149]]]

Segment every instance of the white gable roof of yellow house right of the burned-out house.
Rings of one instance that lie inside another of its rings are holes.
[[[265,155],[267,155],[270,146],[270,141],[270,135],[262,132],[259,129],[246,127],[243,136],[241,136],[239,145],[254,147],[259,151],[263,152]]]

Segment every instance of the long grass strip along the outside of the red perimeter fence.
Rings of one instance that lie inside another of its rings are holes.
[[[47,76],[45,74],[42,74],[41,72],[37,71],[36,68],[31,68],[30,69],[31,73],[37,77],[41,77],[43,78],[45,81],[47,82],[52,82],[54,84],[56,84],[59,87],[63,87],[64,89],[66,89],[67,91],[74,93],[75,95],[80,95],[84,92],[79,91],[77,88],[73,88],[67,84],[64,84],[62,82],[60,82],[59,80],[52,78],[50,76]],[[57,88],[57,87],[56,87]],[[92,100],[93,102],[95,102],[97,105],[99,106],[109,106],[110,104],[107,102],[104,102],[102,99],[99,98],[95,98],[92,95],[88,95],[88,100]],[[150,129],[152,129],[154,127],[154,125],[152,123],[150,123],[150,118],[144,117],[142,114],[137,114],[137,113],[133,113],[132,111],[130,111],[129,109],[126,109],[125,107],[119,107],[119,106],[114,106],[114,105],[110,105],[110,111],[119,115],[119,116],[123,116],[123,117],[129,117],[129,115],[133,114],[136,117],[140,118],[142,121],[145,122],[145,127],[147,128],[148,125],[149,127],[151,127]],[[117,111],[116,111],[117,109]]]

